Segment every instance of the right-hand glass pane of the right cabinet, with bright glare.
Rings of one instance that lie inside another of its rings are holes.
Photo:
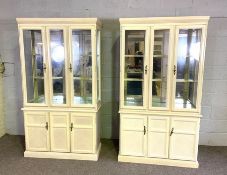
[[[196,108],[202,29],[178,34],[175,108]]]

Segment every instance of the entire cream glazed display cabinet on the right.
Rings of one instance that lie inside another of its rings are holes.
[[[208,20],[120,19],[119,161],[198,167]]]

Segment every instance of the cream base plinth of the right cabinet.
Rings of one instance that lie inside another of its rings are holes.
[[[146,158],[146,157],[135,157],[135,156],[123,156],[123,155],[118,155],[118,161],[128,162],[128,163],[176,166],[176,167],[185,167],[185,168],[199,167],[199,163],[197,161],[193,162],[193,161],[184,161],[184,160],[158,159],[158,158]]]

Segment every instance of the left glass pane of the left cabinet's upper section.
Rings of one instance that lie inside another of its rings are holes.
[[[27,103],[45,103],[45,71],[41,30],[23,30]]]

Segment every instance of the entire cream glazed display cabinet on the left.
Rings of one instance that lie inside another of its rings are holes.
[[[19,18],[25,157],[98,160],[96,18]]]

